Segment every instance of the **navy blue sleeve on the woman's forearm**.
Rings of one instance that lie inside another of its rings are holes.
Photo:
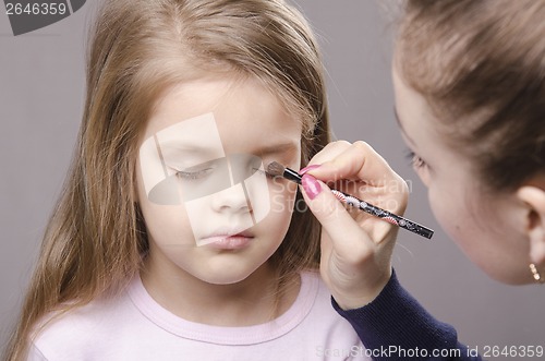
[[[374,360],[482,360],[458,342],[456,329],[435,320],[399,284],[396,273],[370,304],[335,310],[347,318]]]

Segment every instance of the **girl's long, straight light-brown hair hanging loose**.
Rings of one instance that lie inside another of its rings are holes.
[[[329,142],[317,45],[282,0],[109,0],[90,34],[76,151],[7,360],[24,358],[44,316],[119,292],[138,272],[148,241],[134,195],[136,155],[169,87],[210,72],[255,76],[303,122],[303,165]],[[279,289],[318,255],[318,222],[307,208],[294,212],[270,260]]]

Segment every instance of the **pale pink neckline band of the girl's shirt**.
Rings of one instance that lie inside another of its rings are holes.
[[[308,315],[317,292],[318,277],[303,272],[295,301],[279,317],[253,326],[223,327],[195,323],[174,315],[152,298],[138,275],[128,289],[136,309],[158,327],[179,337],[218,345],[254,345],[286,335]]]

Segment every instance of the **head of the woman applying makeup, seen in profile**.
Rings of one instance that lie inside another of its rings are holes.
[[[545,257],[528,241],[541,203],[520,193],[545,189],[544,17],[545,1],[409,0],[396,47],[398,118],[434,213],[507,282]]]

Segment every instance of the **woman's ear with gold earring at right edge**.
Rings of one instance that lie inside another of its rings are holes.
[[[530,261],[545,265],[545,184],[522,185],[517,197],[526,205],[525,232],[530,240]]]

